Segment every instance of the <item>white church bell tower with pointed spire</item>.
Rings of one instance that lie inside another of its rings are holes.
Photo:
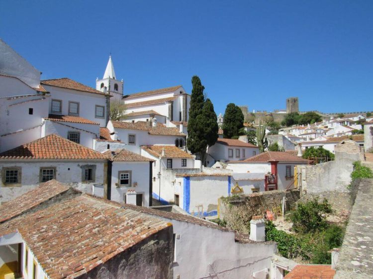
[[[119,81],[115,78],[114,64],[110,55],[102,79],[96,79],[96,89],[112,95],[111,100],[123,97],[123,79]]]

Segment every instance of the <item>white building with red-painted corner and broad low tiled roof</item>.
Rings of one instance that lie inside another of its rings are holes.
[[[227,168],[237,173],[264,173],[265,191],[286,190],[294,183],[294,166],[308,160],[288,152],[266,151],[243,161],[230,161]]]

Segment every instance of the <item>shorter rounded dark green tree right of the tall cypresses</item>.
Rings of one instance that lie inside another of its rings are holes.
[[[244,127],[244,115],[242,110],[233,103],[227,105],[224,113],[223,136],[231,139],[239,136],[239,131]]]

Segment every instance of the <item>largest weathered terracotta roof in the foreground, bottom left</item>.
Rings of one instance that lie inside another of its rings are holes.
[[[0,225],[18,231],[50,279],[79,278],[171,223],[88,195]]]

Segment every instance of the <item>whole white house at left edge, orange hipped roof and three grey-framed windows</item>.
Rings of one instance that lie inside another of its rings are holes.
[[[106,185],[107,158],[83,145],[49,135],[0,153],[0,202],[52,179],[92,193]]]

